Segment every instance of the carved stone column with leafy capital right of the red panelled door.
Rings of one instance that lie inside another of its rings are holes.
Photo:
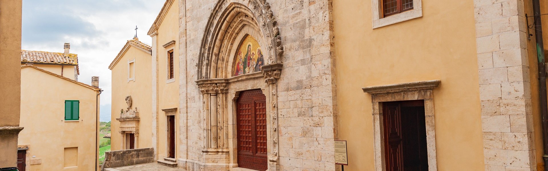
[[[262,66],[262,74],[265,76],[265,82],[270,90],[270,135],[272,144],[269,156],[269,170],[278,170],[278,78],[282,74],[282,64],[275,63]]]

